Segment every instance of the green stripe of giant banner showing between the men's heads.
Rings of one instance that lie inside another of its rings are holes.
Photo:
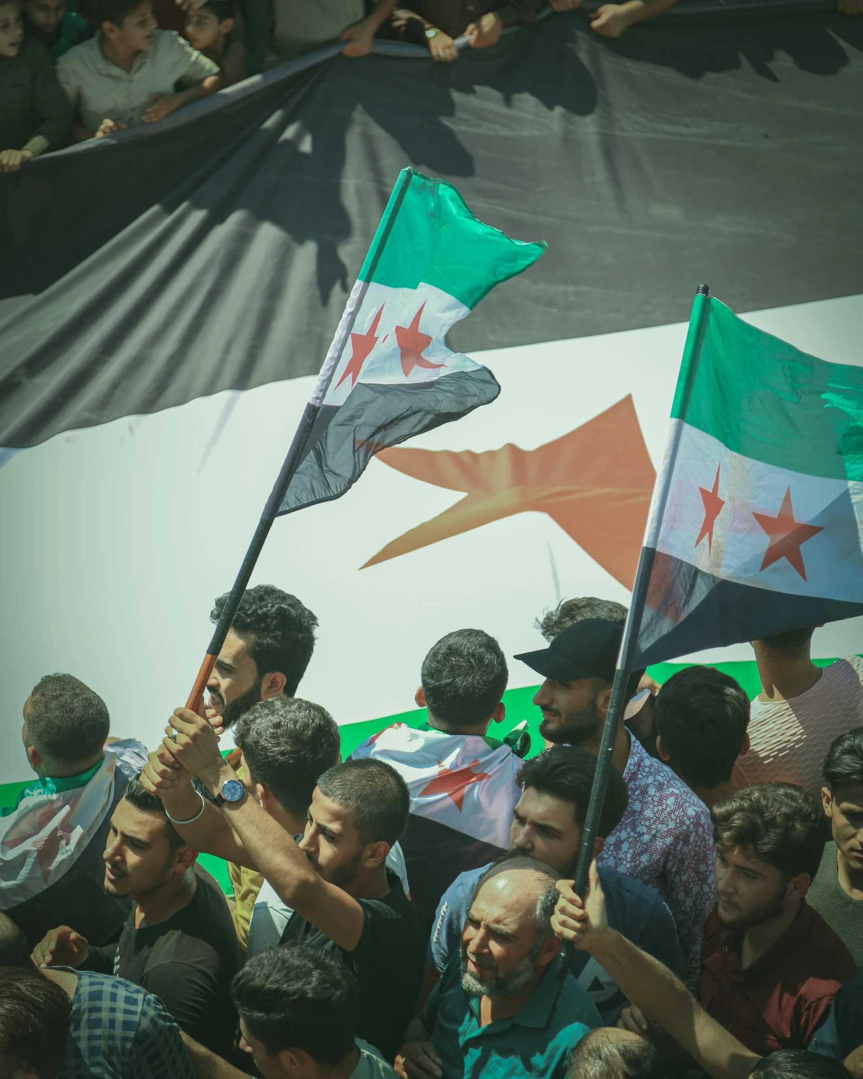
[[[835,660],[813,659],[812,663],[818,664],[819,667],[826,667],[835,663]],[[657,664],[655,667],[648,667],[647,673],[661,683],[667,682],[676,671],[690,666],[691,664]],[[717,667],[721,671],[725,671],[726,674],[730,674],[731,678],[737,679],[750,699],[759,692],[758,668],[754,659],[741,659],[728,664],[713,664],[711,666]],[[518,723],[526,720],[531,732],[531,751],[528,756],[536,756],[544,748],[543,738],[539,734],[539,713],[533,704],[533,697],[537,688],[535,685],[525,685],[518,689],[507,689],[504,694],[506,719],[503,723],[496,724],[491,732],[494,737],[503,738]],[[361,741],[365,741],[370,735],[375,734],[378,730],[383,730],[384,727],[388,727],[393,723],[407,723],[411,727],[419,727],[426,722],[427,718],[428,713],[424,708],[413,708],[409,712],[399,712],[397,715],[384,715],[379,720],[345,723],[344,726],[339,728],[342,736],[342,756],[348,757]],[[28,782],[30,782],[29,779],[25,779],[18,783],[0,783],[0,807],[14,805],[18,792]],[[200,855],[198,861],[208,873],[211,873],[216,877],[222,890],[230,896],[232,888],[228,877],[227,863],[214,855]]]

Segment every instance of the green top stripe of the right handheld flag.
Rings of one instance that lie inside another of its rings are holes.
[[[714,298],[688,407],[675,399],[672,416],[743,456],[863,480],[863,368],[809,356]]]

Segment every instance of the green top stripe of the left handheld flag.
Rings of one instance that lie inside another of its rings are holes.
[[[392,288],[416,288],[425,282],[472,309],[499,282],[526,270],[545,249],[544,243],[510,240],[499,229],[478,221],[446,180],[406,168],[389,196],[359,279]]]

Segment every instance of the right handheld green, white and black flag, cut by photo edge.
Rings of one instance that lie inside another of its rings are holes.
[[[629,668],[863,614],[863,367],[697,296]]]

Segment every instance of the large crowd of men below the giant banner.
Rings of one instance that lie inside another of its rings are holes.
[[[490,734],[507,659],[463,629],[425,722],[342,760],[298,696],[317,619],[269,585],[149,750],[45,675],[0,821],[0,1079],[863,1077],[863,659],[755,641],[751,704],[632,672],[577,896],[625,619],[538,620],[533,755]]]

